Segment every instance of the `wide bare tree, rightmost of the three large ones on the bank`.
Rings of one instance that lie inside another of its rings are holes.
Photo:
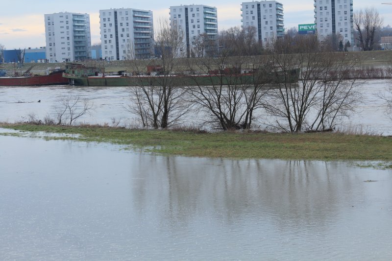
[[[286,52],[275,49],[271,60],[273,70],[286,77],[293,74],[293,69],[300,69],[299,81],[275,83],[266,109],[275,117],[278,129],[326,130],[345,112],[355,108],[355,85],[346,77],[353,65],[344,54],[337,56],[324,50],[317,37],[301,37],[295,42],[297,53],[291,50],[294,47],[290,42],[282,42],[286,46],[281,47]]]

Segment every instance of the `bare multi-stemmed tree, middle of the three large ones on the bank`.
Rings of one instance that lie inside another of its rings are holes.
[[[195,86],[188,92],[206,115],[204,123],[222,130],[249,129],[270,82],[265,57],[233,54],[224,48],[219,57],[189,60]]]

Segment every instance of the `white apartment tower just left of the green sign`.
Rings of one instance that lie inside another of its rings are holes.
[[[254,26],[256,40],[267,45],[285,33],[283,4],[277,1],[252,1],[242,3],[242,27]]]

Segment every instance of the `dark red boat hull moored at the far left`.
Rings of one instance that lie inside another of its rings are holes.
[[[63,77],[63,71],[52,72],[49,75],[0,77],[0,86],[39,86],[68,83],[69,79]]]

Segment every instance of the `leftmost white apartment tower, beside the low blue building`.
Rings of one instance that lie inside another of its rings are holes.
[[[49,62],[90,59],[90,15],[68,12],[45,15],[45,35]]]

